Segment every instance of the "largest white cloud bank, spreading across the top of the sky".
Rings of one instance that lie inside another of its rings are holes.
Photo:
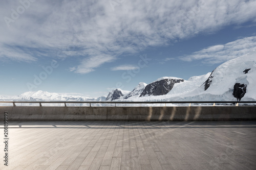
[[[115,0],[113,0],[115,1]],[[86,56],[71,68],[79,73],[95,70],[123,53],[136,53],[147,46],[166,45],[169,41],[218,30],[256,18],[256,1],[240,0],[148,0],[116,1],[35,1],[7,27],[0,20],[0,49],[19,46],[19,50],[2,50],[0,58],[33,61],[36,57],[60,58]],[[11,18],[18,1],[4,1],[0,18]],[[212,49],[215,50],[215,49]],[[39,53],[44,51],[45,53]],[[16,55],[19,54],[19,55]],[[106,56],[106,59],[98,56]],[[110,57],[111,56],[111,57]],[[92,61],[93,60],[93,61]],[[92,63],[89,65],[88,63]]]

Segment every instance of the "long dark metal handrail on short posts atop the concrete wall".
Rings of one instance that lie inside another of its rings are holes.
[[[63,103],[65,104],[65,107],[67,106],[67,103],[76,103],[76,104],[187,104],[189,103],[189,106],[191,106],[191,103],[213,103],[212,106],[215,106],[216,103],[235,103],[236,106],[238,106],[240,103],[256,103],[256,101],[161,101],[161,102],[101,102],[101,101],[0,101],[0,103],[12,103],[13,106],[16,106],[15,103],[39,103],[39,106],[42,106],[42,103]]]

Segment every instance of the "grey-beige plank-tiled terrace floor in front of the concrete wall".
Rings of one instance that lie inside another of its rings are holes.
[[[255,121],[9,122],[9,138],[0,169],[256,169]]]

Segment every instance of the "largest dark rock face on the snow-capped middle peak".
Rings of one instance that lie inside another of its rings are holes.
[[[175,83],[184,82],[183,79],[163,79],[151,84],[148,84],[140,94],[141,96],[147,95],[164,95],[167,94],[174,87]]]

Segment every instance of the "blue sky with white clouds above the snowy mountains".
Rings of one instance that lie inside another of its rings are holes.
[[[238,0],[4,1],[0,94],[97,97],[207,74],[255,50],[255,9]]]

